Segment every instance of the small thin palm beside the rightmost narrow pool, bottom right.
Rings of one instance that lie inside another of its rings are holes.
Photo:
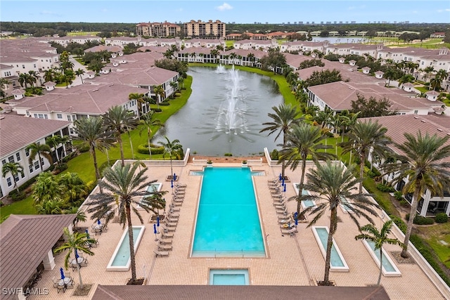
[[[361,227],[361,234],[354,237],[355,240],[368,240],[375,244],[375,251],[380,250],[380,273],[378,274],[378,287],[380,286],[381,274],[383,273],[383,244],[398,244],[402,246],[403,243],[397,240],[397,238],[390,238],[388,235],[391,233],[392,220],[383,224],[383,228],[380,231],[373,225],[367,224]],[[366,233],[364,233],[366,232]]]

